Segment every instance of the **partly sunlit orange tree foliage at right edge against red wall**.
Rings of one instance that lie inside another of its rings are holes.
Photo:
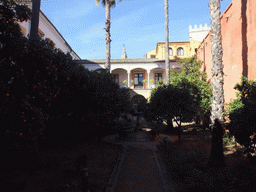
[[[241,82],[234,87],[237,99],[231,101],[226,110],[230,123],[227,128],[235,136],[236,141],[244,145],[246,152],[254,152],[256,143],[256,81],[241,78]]]

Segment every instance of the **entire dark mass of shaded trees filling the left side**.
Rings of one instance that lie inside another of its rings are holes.
[[[76,141],[110,133],[114,119],[130,110],[129,92],[108,72],[90,72],[49,39],[29,40],[17,21],[26,6],[0,5],[0,127],[5,144],[38,150],[46,141]]]

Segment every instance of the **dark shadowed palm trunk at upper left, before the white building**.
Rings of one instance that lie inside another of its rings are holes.
[[[38,35],[40,4],[41,0],[32,0],[32,18],[29,39],[36,38]]]

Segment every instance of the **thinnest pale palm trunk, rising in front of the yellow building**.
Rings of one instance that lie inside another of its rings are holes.
[[[164,0],[164,10],[165,10],[165,75],[166,75],[166,84],[170,84],[168,0]]]

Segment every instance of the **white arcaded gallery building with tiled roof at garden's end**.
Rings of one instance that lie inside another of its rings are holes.
[[[105,69],[106,59],[79,60],[79,65],[90,71]],[[170,69],[179,70],[182,64],[170,60]],[[111,59],[110,73],[120,87],[131,90],[131,96],[142,95],[149,99],[151,89],[165,79],[165,61],[159,59]]]

